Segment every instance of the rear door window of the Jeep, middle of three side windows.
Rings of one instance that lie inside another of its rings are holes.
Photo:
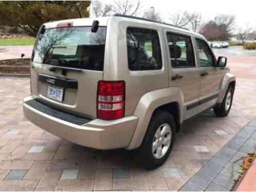
[[[195,56],[191,38],[167,33],[169,51],[173,68],[195,67]]]

